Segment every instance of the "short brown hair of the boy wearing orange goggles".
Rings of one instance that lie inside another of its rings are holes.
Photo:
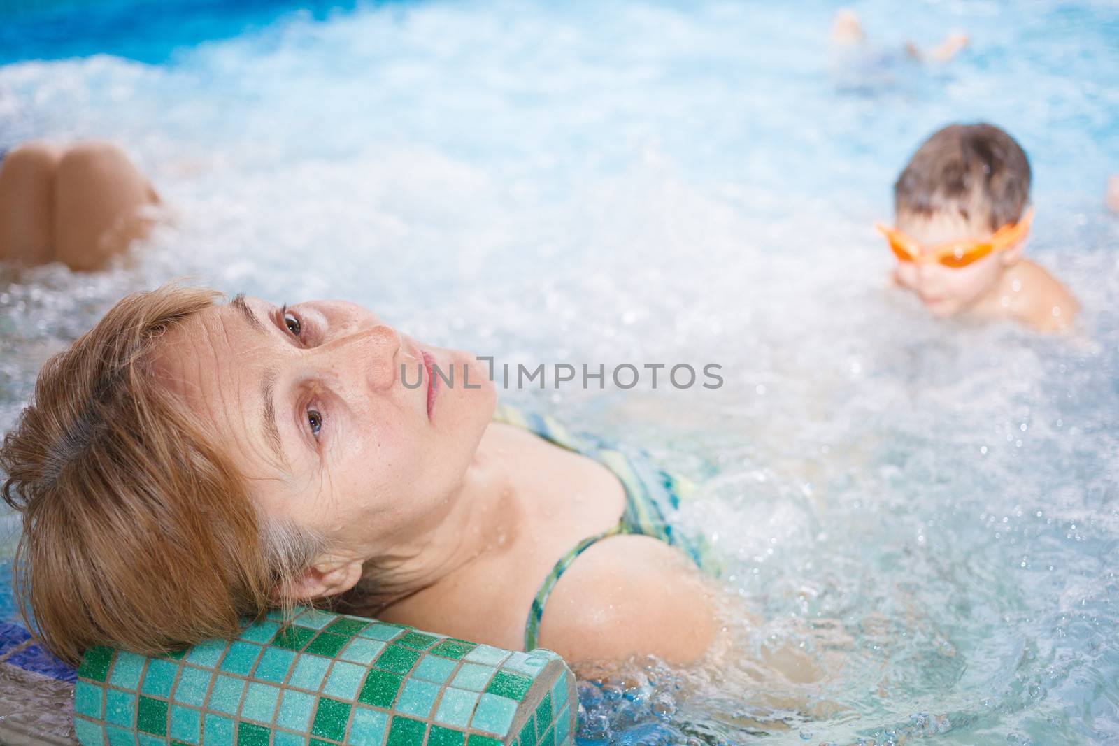
[[[1016,223],[1029,202],[1029,159],[991,124],[950,124],[925,140],[894,182],[894,213],[958,213],[991,230]]]

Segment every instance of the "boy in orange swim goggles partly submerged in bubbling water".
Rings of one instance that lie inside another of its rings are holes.
[[[877,228],[897,257],[894,282],[938,317],[1072,323],[1076,300],[1022,258],[1033,209],[1029,161],[990,124],[952,124],[918,149],[894,183],[896,226]]]

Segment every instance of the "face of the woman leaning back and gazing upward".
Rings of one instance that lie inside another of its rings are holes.
[[[449,509],[492,416],[472,356],[352,303],[238,296],[163,341],[160,376],[213,425],[257,504],[348,553],[375,556]]]

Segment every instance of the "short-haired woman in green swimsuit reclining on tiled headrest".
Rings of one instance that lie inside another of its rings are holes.
[[[18,589],[57,655],[167,650],[325,598],[571,662],[708,650],[713,596],[645,520],[658,485],[631,464],[495,421],[485,365],[357,305],[216,300],[125,298],[4,438]]]

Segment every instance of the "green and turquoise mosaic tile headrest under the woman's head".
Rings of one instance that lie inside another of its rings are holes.
[[[169,655],[91,648],[74,731],[85,746],[564,746],[577,707],[551,651],[303,610]]]

